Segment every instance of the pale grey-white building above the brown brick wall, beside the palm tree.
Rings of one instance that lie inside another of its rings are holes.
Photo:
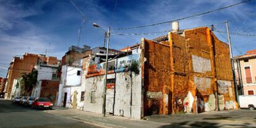
[[[41,93],[41,80],[57,79],[59,65],[36,65],[35,69],[38,71],[36,86],[33,87],[32,97],[40,97]]]

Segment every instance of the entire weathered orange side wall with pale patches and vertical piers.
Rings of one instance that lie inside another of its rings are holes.
[[[168,36],[145,40],[145,115],[236,108],[228,45],[206,27]]]

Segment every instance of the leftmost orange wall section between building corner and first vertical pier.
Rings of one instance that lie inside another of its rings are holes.
[[[144,115],[163,114],[163,93],[169,90],[169,47],[145,40]]]

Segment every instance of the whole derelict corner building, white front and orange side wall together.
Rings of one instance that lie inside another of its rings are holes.
[[[105,109],[106,62],[95,56],[83,63],[83,110],[140,119],[237,108],[229,46],[209,28],[143,38],[137,48],[122,50],[109,56]]]

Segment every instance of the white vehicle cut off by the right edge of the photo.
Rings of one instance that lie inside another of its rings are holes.
[[[256,95],[239,95],[240,108],[249,108],[255,110],[256,108]]]

